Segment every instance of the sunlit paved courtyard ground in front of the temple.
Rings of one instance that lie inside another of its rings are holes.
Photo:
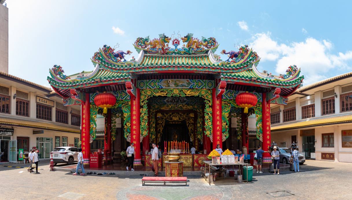
[[[351,199],[351,163],[307,160],[300,173],[254,174],[240,185],[209,186],[188,176],[187,187],[142,186],[140,175],[73,176],[50,172],[48,164],[39,162],[41,174],[0,165],[0,199]]]

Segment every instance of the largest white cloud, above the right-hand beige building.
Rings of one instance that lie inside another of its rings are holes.
[[[333,44],[327,40],[307,38],[302,42],[279,44],[271,38],[271,33],[257,33],[252,36],[250,47],[260,56],[262,61],[276,61],[275,71],[284,74],[290,65],[301,68],[305,75],[304,84],[329,78],[333,70],[347,69],[352,61],[352,51],[332,54]]]

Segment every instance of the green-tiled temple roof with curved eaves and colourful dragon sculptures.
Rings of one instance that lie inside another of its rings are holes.
[[[172,40],[174,48],[168,46],[171,38],[164,34],[161,38],[149,40],[138,38],[134,47],[139,56],[130,61],[124,56],[131,51],[115,51],[110,46],[104,45],[92,57],[95,69],[90,74],[64,75],[61,66],[54,65],[50,70],[48,81],[58,94],[66,96],[69,89],[88,88],[93,86],[104,86],[107,84],[123,84],[131,80],[131,76],[138,74],[154,73],[198,73],[221,75],[221,80],[229,84],[251,84],[253,86],[268,86],[287,88],[283,94],[290,94],[302,82],[303,76],[299,76],[300,70],[296,66],[290,66],[287,74],[275,78],[264,76],[257,70],[259,56],[247,45],[239,48],[239,51],[221,51],[221,54],[228,55],[223,61],[219,56],[214,55],[218,43],[215,38],[204,38],[198,40],[192,37],[193,34],[184,36],[183,47],[179,47],[180,40]]]

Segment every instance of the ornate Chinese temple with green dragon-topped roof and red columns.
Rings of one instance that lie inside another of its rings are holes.
[[[303,81],[295,65],[281,76],[260,73],[260,58],[247,45],[236,51],[222,50],[226,59],[221,60],[215,54],[219,44],[212,37],[160,34],[156,39],[137,38],[133,46],[138,58],[126,60],[131,51],[104,45],[91,59],[94,70],[90,74],[73,77],[64,75],[61,66],[50,69],[48,81],[64,105],[81,105],[84,164],[89,165],[98,114],[105,117],[105,160],[111,160],[115,140],[135,144],[135,165],[150,164],[146,154],[152,142],[164,153],[175,144],[185,155],[190,155],[191,145],[210,153],[216,145],[232,142],[231,118],[239,122],[236,139],[248,149],[248,116],[252,114],[256,137],[267,151],[270,104],[286,105],[287,96]],[[121,119],[122,139],[116,139],[117,118]],[[263,162],[271,162],[269,154]]]

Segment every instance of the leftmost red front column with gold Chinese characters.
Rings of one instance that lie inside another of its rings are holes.
[[[83,164],[89,165],[90,159],[90,96],[86,94],[86,101],[81,105],[81,147]]]

